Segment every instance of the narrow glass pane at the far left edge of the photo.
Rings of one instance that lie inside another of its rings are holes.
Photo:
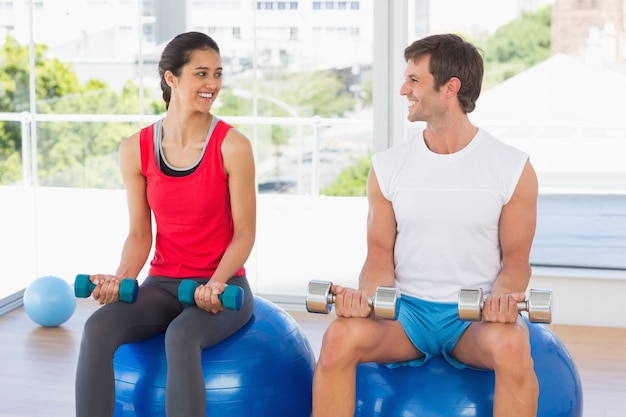
[[[35,196],[30,181],[28,13],[22,2],[0,9],[0,300],[36,274]]]

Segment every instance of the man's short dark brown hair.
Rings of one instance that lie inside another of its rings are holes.
[[[470,113],[476,108],[483,82],[481,52],[463,38],[453,34],[432,35],[417,40],[404,50],[404,59],[416,62],[430,55],[429,71],[435,78],[435,90],[452,77],[461,81],[457,94],[461,108]]]

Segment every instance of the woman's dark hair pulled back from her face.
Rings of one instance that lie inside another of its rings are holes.
[[[163,91],[166,109],[170,105],[172,90],[165,82],[165,72],[171,71],[176,77],[180,76],[180,70],[191,59],[191,53],[199,49],[212,49],[218,54],[220,53],[217,43],[209,35],[201,32],[185,32],[176,35],[163,50],[159,61],[159,76],[161,77],[161,91]]]

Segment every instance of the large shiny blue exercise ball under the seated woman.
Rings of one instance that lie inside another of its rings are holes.
[[[165,336],[115,352],[115,417],[165,416]],[[254,297],[239,331],[202,352],[207,416],[309,417],[315,355],[298,323]]]

